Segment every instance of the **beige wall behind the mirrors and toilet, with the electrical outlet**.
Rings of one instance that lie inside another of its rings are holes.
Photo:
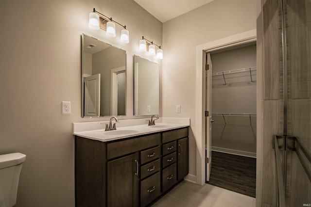
[[[130,44],[87,27],[96,8],[125,24]],[[162,23],[133,0],[0,1],[0,154],[27,155],[16,207],[74,206],[72,123],[81,118],[81,34],[127,51],[127,116],[133,116],[133,54],[142,35],[162,44]],[[71,101],[71,114],[61,102]],[[140,118],[140,117],[138,117]]]

